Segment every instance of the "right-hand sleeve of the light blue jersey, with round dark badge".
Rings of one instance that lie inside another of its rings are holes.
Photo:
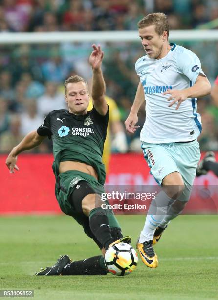
[[[201,69],[201,63],[197,55],[184,47],[179,46],[179,48],[177,52],[177,67],[179,71],[186,75],[193,84],[195,84],[200,73],[206,77]]]

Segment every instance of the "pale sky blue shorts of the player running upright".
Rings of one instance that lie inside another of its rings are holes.
[[[163,178],[179,172],[182,176],[186,191],[179,197],[181,201],[188,201],[191,187],[196,176],[197,163],[200,160],[200,149],[197,140],[189,143],[142,143],[144,158],[150,167],[150,173],[158,184]]]

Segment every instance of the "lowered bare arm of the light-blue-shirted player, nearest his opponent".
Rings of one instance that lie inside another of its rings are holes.
[[[135,94],[135,99],[131,107],[130,114],[125,121],[126,130],[129,133],[134,133],[136,129],[138,129],[140,126],[135,126],[135,124],[138,122],[138,111],[141,107],[142,103],[145,101],[144,96],[144,89],[141,84],[141,81],[138,84],[138,88]]]

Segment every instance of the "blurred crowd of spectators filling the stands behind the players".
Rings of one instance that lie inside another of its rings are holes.
[[[194,29],[218,18],[217,0],[1,0],[0,32],[137,30],[137,22],[151,12],[168,15],[171,29]],[[215,27],[216,28],[216,27]],[[13,42],[13,41],[12,41]],[[175,41],[176,42],[176,41]],[[218,43],[179,42],[194,51],[211,84],[218,75]],[[135,43],[101,43],[107,95],[129,114],[139,78],[136,60],[145,55]],[[66,108],[63,83],[70,75],[91,78],[90,43],[0,45],[0,153],[8,153],[22,137],[42,124],[54,109]],[[208,96],[198,100],[203,130],[201,150],[218,150],[218,104]],[[139,125],[145,109],[139,111]],[[140,130],[127,135],[130,151],[141,151]],[[137,143],[135,143],[137,142]],[[136,146],[135,146],[136,145]],[[138,146],[139,145],[139,146]],[[37,152],[50,152],[46,141]]]

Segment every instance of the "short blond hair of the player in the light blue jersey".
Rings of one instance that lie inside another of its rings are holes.
[[[164,13],[149,14],[138,22],[138,28],[142,29],[150,25],[155,25],[156,33],[161,36],[164,31],[167,31],[167,39],[170,34],[170,27],[167,16]]]

